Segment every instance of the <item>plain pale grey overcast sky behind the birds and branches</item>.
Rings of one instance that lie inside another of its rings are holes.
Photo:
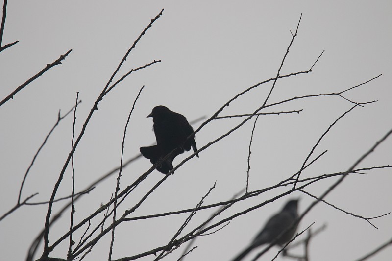
[[[80,132],[94,101],[107,80],[143,29],[161,9],[159,18],[132,51],[123,75],[154,60],[154,64],[119,84],[99,104],[75,153],[76,191],[120,164],[123,128],[132,103],[145,85],[131,116],[124,158],[139,153],[140,146],[155,142],[152,120],[146,118],[156,105],[165,105],[192,121],[210,117],[237,93],[276,75],[299,17],[298,36],[281,71],[306,71],[325,50],[308,74],[279,80],[270,97],[277,102],[300,95],[345,90],[383,74],[347,92],[357,102],[378,100],[356,108],[333,127],[315,151],[319,161],[302,177],[347,170],[392,128],[392,2],[385,1],[8,1],[3,45],[19,40],[0,54],[0,97],[9,95],[69,49],[62,65],[35,80],[0,108],[1,215],[17,202],[21,181],[35,152],[57,120],[58,110],[72,108],[76,92],[76,133]],[[120,76],[117,76],[118,79]],[[271,84],[252,90],[234,101],[223,115],[252,113],[261,106]],[[250,190],[278,183],[297,172],[320,135],[352,106],[337,96],[297,100],[265,112],[300,110],[300,114],[259,118],[251,154]],[[243,119],[220,119],[196,134],[200,148],[221,136]],[[156,214],[194,207],[217,181],[205,204],[230,199],[245,187],[247,151],[253,120],[214,144],[179,168],[132,216]],[[31,202],[49,200],[52,187],[71,150],[72,115],[61,121],[38,156],[25,183],[22,198],[35,192]],[[200,122],[194,126],[197,128]],[[392,138],[382,143],[360,167],[392,165]],[[178,164],[190,153],[178,156]],[[141,158],[123,170],[121,188],[150,167]],[[71,192],[68,168],[58,196]],[[368,175],[350,175],[326,200],[344,210],[366,216],[392,211],[392,172],[380,169]],[[117,176],[117,175],[116,175]],[[115,190],[116,176],[100,184],[76,205],[75,222],[107,202]],[[162,174],[151,173],[146,182],[124,203],[120,214],[149,190]],[[319,182],[307,191],[319,196],[333,180]],[[289,188],[263,193],[236,204],[219,218],[270,199]],[[299,192],[234,219],[227,227],[196,240],[199,246],[187,261],[229,260],[241,251],[290,198],[301,196],[300,212],[313,200]],[[55,205],[59,209],[64,203]],[[28,246],[44,226],[47,206],[24,206],[0,222],[0,260],[24,260]],[[205,220],[211,211],[200,212],[190,226]],[[113,259],[142,253],[167,244],[186,215],[127,222],[117,227]],[[219,220],[219,219],[218,219]],[[391,238],[392,215],[372,222],[355,218],[325,204],[315,207],[299,230],[327,229],[310,244],[310,258],[354,260]],[[54,242],[69,228],[69,211],[50,231]],[[81,232],[82,233],[82,232]],[[80,236],[80,235],[79,235]],[[107,260],[110,236],[104,237],[86,260]],[[65,257],[64,244],[50,256]],[[272,248],[262,258],[270,260]],[[182,249],[165,260],[176,260]],[[42,251],[39,251],[41,254]],[[256,252],[252,252],[250,260]],[[299,248],[295,253],[302,253]],[[389,247],[370,260],[389,260]],[[153,260],[149,256],[142,260]],[[279,257],[277,260],[283,260]],[[287,260],[287,259],[285,259]]]

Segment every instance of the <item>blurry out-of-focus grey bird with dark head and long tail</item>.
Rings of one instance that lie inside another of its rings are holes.
[[[294,237],[294,234],[297,230],[297,209],[298,199],[292,199],[288,201],[279,213],[270,217],[264,228],[257,234],[250,245],[246,247],[240,254],[238,254],[237,257],[235,257],[232,261],[240,261],[254,248],[263,244],[272,243],[275,240],[276,242],[274,245],[283,247]],[[294,224],[294,222],[296,223]]]

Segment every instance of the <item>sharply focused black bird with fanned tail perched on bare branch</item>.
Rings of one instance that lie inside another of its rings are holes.
[[[187,118],[182,114],[173,112],[169,108],[159,105],[152,109],[147,118],[152,117],[153,130],[156,138],[156,145],[141,147],[142,155],[155,164],[171,153],[159,166],[157,170],[163,174],[168,174],[173,169],[173,160],[184,151],[197,151],[195,134]],[[189,137],[189,139],[188,139]],[[198,153],[196,153],[198,157]]]

